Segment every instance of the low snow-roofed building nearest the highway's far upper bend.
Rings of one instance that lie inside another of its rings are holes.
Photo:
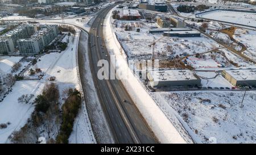
[[[121,9],[119,10],[120,19],[123,20],[137,20],[141,19],[141,14],[135,9]]]

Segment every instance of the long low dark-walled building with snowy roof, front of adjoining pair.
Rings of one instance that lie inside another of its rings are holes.
[[[177,36],[177,37],[200,37],[199,31],[165,31],[164,36]]]

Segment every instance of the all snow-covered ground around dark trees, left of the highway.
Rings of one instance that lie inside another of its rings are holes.
[[[7,137],[14,131],[19,130],[27,119],[30,117],[33,107],[31,104],[18,103],[18,98],[23,94],[40,94],[44,84],[48,82],[49,77],[56,77],[55,82],[60,90],[60,97],[63,97],[63,91],[69,88],[76,88],[80,90],[76,49],[79,41],[79,32],[75,36],[75,39],[69,38],[69,44],[67,49],[61,53],[49,53],[40,57],[40,61],[31,66],[32,69],[40,68],[45,76],[36,81],[19,81],[13,86],[13,92],[9,93],[7,97],[0,103],[0,123],[10,122],[6,129],[0,129],[0,143],[6,143]],[[17,60],[18,61],[18,60]],[[26,76],[28,76],[26,72]],[[14,121],[15,120],[15,121]],[[79,117],[76,122],[80,122],[80,125],[74,125],[75,142],[77,143],[95,143],[90,122],[86,113],[84,105],[81,108]],[[75,123],[77,124],[77,123]],[[77,127],[81,127],[84,132],[77,131]],[[79,132],[79,133],[76,133]],[[71,137],[71,139],[73,139]]]

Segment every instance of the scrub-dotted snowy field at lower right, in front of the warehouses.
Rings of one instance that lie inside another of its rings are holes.
[[[156,93],[166,113],[174,109],[203,143],[256,143],[256,93],[247,91]]]

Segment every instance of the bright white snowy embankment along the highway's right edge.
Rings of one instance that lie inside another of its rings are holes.
[[[110,55],[115,55],[117,69],[123,71],[118,75],[126,74],[128,77],[127,79],[121,79],[123,85],[160,143],[187,143],[143,88],[138,81],[139,79],[134,76],[126,62],[126,56],[122,55],[124,52],[120,53],[121,45],[113,33],[111,24],[111,12],[113,10],[108,13],[104,21],[104,38]]]

